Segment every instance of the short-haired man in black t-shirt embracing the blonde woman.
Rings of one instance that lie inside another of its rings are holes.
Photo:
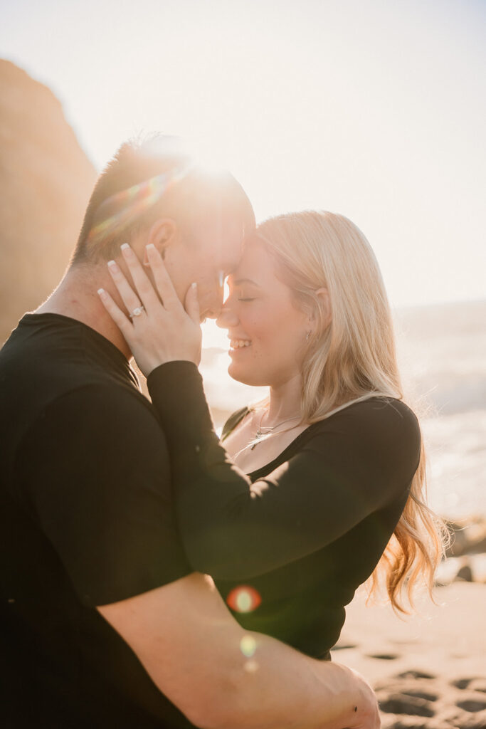
[[[377,725],[361,679],[248,636],[211,580],[191,574],[160,424],[97,295],[119,302],[106,261],[123,266],[121,243],[140,255],[153,243],[181,300],[197,281],[202,315],[216,316],[253,225],[230,175],[167,140],[123,145],[58,289],[0,353],[7,727]]]

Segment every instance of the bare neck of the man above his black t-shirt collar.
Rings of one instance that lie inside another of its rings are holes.
[[[122,333],[109,316],[98,289],[113,295],[113,284],[107,278],[106,267],[74,265],[68,268],[62,281],[35,313],[55,313],[82,321],[116,346],[127,359],[132,356]]]

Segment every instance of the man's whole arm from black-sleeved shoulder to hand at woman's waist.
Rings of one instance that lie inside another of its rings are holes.
[[[70,391],[47,408],[23,452],[20,480],[79,599],[103,606],[189,720],[209,729],[375,729],[372,692],[346,668],[254,635],[258,668],[245,670],[245,632],[187,563],[162,434],[138,396]]]

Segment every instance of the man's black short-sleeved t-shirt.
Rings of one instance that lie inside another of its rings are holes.
[[[28,314],[0,352],[0,413],[2,727],[191,726],[95,609],[192,572],[127,360]]]

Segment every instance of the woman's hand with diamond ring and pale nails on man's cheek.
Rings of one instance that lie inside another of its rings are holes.
[[[114,261],[108,264],[129,316],[104,289],[99,289],[98,295],[125,337],[138,367],[148,377],[165,362],[185,359],[199,364],[202,333],[196,284],[189,286],[184,309],[159,252],[153,245],[146,246],[146,252],[157,290],[128,243],[122,246],[122,254],[136,291]]]

